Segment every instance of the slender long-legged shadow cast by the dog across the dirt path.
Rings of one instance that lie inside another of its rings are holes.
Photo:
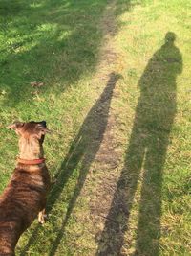
[[[64,234],[64,229],[69,221],[69,218],[73,212],[76,199],[78,198],[80,191],[84,185],[86,176],[90,170],[90,166],[93,163],[96,152],[98,151],[100,144],[103,139],[103,135],[108,123],[108,116],[110,110],[110,104],[113,96],[113,91],[119,75],[111,73],[106,87],[96,104],[93,105],[90,112],[88,113],[83,125],[81,126],[78,134],[76,135],[74,142],[61,164],[60,169],[57,171],[55,178],[56,182],[53,184],[53,188],[48,197],[47,212],[51,213],[53,205],[60,197],[64,186],[66,185],[69,178],[74,174],[78,164],[80,162],[79,174],[77,181],[75,182],[74,192],[69,200],[68,208],[60,229],[57,231],[56,239],[54,240],[49,255],[54,255],[55,251],[60,244],[61,238]],[[27,254],[30,246],[36,240],[36,234],[39,233],[40,225],[37,225],[33,232],[28,244],[21,251],[20,255],[24,256]]]

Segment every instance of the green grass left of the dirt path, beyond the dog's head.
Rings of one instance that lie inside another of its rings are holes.
[[[13,158],[17,148],[15,136],[6,130],[6,125],[15,119],[46,119],[54,131],[47,141],[48,149],[54,141],[47,154],[53,155],[54,163],[58,159],[61,162],[85,115],[82,109],[91,104],[87,95],[90,76],[96,68],[102,36],[99,22],[105,5],[105,1],[0,2],[4,156]],[[32,88],[32,81],[44,82],[44,86]],[[63,132],[68,133],[66,137]],[[59,163],[56,165],[53,169]],[[5,164],[1,168],[4,172]]]

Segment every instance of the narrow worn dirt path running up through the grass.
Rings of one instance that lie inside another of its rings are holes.
[[[91,110],[89,126],[93,134],[91,143],[97,148],[94,161],[91,163],[84,187],[81,191],[81,198],[86,198],[89,205],[83,216],[75,213],[77,221],[85,223],[83,235],[77,246],[89,247],[92,252],[86,255],[102,255],[100,237],[104,229],[105,221],[108,221],[108,213],[111,210],[112,200],[117,188],[122,158],[120,142],[117,141],[117,109],[115,102],[119,97],[117,83],[122,79],[121,56],[117,52],[115,36],[117,35],[117,24],[115,19],[116,1],[110,3],[103,15],[102,31],[104,39],[100,50],[100,61],[97,66],[93,83],[105,88]],[[94,151],[95,154],[95,151]],[[91,155],[91,151],[90,151]],[[91,194],[90,194],[91,192]],[[111,220],[113,221],[113,220]],[[86,239],[86,242],[83,241]],[[88,241],[88,242],[87,242]],[[88,245],[87,245],[88,244]],[[109,255],[109,254],[107,254]],[[112,254],[111,254],[112,255]]]

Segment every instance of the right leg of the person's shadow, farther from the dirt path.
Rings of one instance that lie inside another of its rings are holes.
[[[169,132],[151,136],[142,178],[135,255],[159,255],[162,173]]]

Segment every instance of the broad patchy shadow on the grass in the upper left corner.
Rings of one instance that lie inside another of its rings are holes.
[[[98,29],[106,0],[0,0],[0,90],[5,104],[32,101],[30,82],[41,93],[60,93],[94,72]]]

